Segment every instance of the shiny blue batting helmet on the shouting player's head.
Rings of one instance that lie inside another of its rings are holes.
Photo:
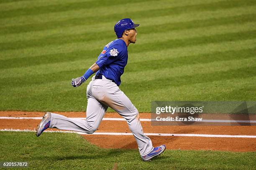
[[[130,18],[124,18],[122,20],[119,20],[114,27],[115,30],[115,34],[118,38],[122,37],[123,32],[125,30],[129,30],[131,28],[135,28],[138,27],[139,24],[134,24],[133,20],[131,20]]]

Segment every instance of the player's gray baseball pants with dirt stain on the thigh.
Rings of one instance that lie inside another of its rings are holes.
[[[73,120],[63,115],[51,113],[50,128],[94,133],[100,125],[108,107],[125,118],[138,144],[141,156],[150,153],[154,147],[150,138],[143,134],[139,114],[131,100],[111,80],[92,77],[87,86],[87,111],[85,120]]]

